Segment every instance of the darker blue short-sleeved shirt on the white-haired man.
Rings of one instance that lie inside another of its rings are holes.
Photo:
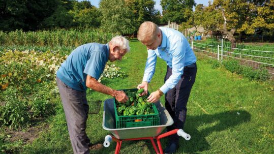
[[[79,91],[87,89],[87,75],[99,79],[109,56],[109,45],[88,43],[77,47],[57,70],[56,76],[66,85]]]

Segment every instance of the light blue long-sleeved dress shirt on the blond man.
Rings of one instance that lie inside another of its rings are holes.
[[[188,40],[175,29],[159,27],[162,30],[162,43],[155,50],[147,50],[147,60],[143,81],[150,82],[155,72],[157,56],[164,59],[172,69],[172,75],[160,88],[163,93],[167,93],[180,80],[184,73],[184,67],[196,62],[196,56],[191,49]]]

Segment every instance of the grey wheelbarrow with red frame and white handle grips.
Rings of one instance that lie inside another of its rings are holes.
[[[177,133],[179,136],[185,138],[186,140],[190,140],[190,135],[185,133],[181,129],[174,129],[172,131],[161,134],[166,127],[171,126],[173,124],[173,119],[171,118],[166,108],[160,102],[155,103],[155,105],[159,111],[159,126],[116,129],[113,99],[105,100],[103,113],[103,129],[109,131],[112,135],[107,135],[105,137],[104,146],[108,147],[112,140],[115,141],[115,154],[118,154],[123,141],[149,139],[155,149],[155,152],[162,154],[163,149],[160,142],[161,138]],[[154,139],[157,140],[159,150],[154,142]]]

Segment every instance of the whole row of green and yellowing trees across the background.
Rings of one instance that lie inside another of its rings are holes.
[[[163,15],[154,6],[153,0],[102,0],[99,8],[86,0],[0,0],[0,30],[100,27],[132,34],[144,21],[175,21],[181,29],[202,26],[205,33],[219,31],[230,40],[235,34],[274,32],[274,0],[214,0],[208,6],[196,6],[194,0],[161,0]]]

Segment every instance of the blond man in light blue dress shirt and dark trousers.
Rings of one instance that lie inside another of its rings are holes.
[[[165,94],[165,107],[174,120],[174,124],[167,130],[182,129],[187,115],[187,102],[191,88],[195,82],[197,66],[196,56],[187,39],[177,30],[158,27],[153,22],[144,22],[138,30],[138,40],[147,47],[147,60],[143,82],[137,88],[147,86],[155,72],[157,56],[167,63],[165,84],[148,97],[148,102],[157,102]],[[170,144],[165,153],[177,150],[179,136],[170,137]]]

